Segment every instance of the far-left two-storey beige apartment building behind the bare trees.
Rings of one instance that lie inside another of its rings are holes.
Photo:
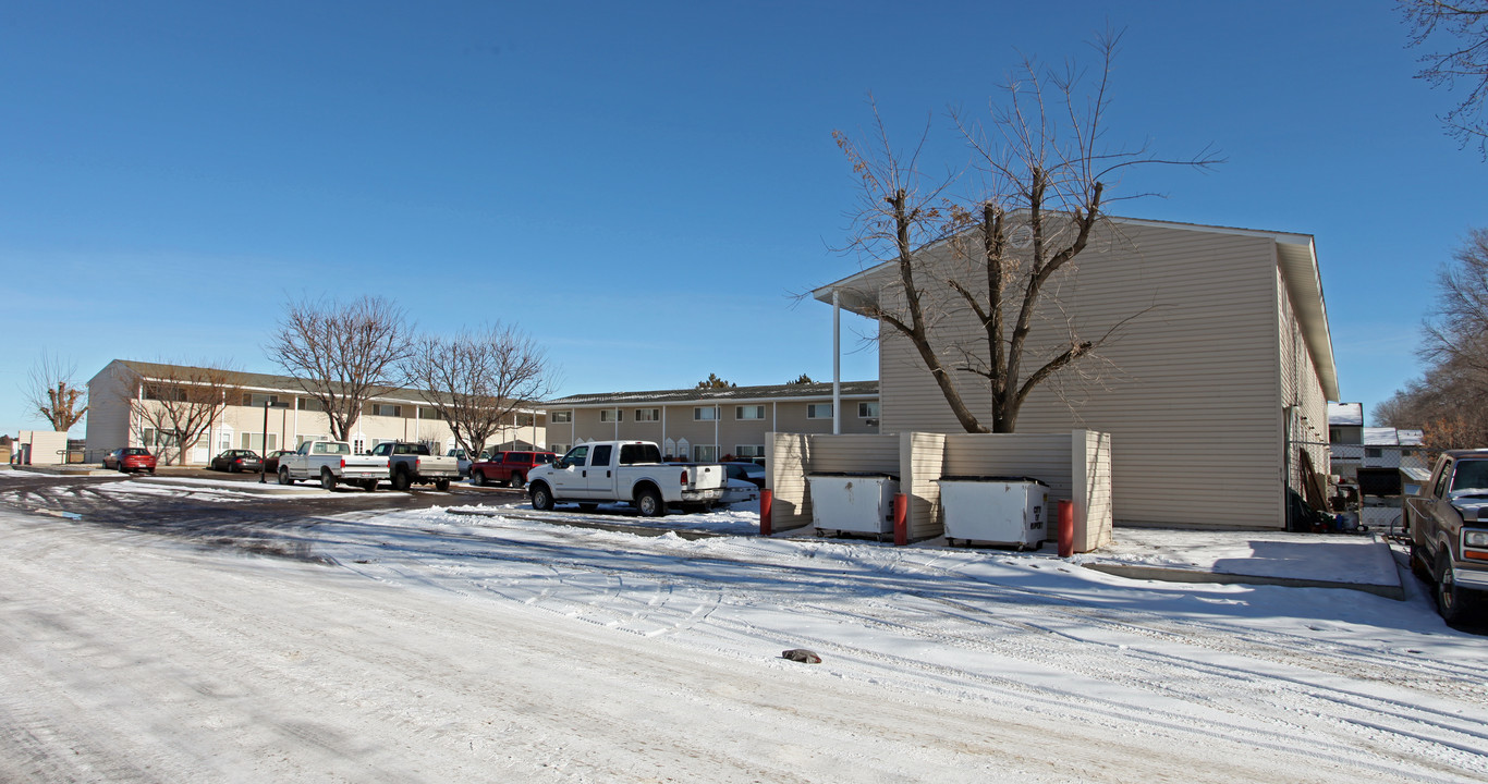
[[[161,385],[177,384],[192,373],[182,366],[113,360],[88,381],[88,460],[119,446],[168,448],[165,439],[134,414],[129,400],[149,402]],[[186,451],[186,463],[202,464],[223,449],[253,449],[268,454],[295,449],[314,439],[330,437],[330,421],[312,397],[290,376],[232,373],[232,399],[213,420],[207,433]],[[265,403],[284,403],[268,408]],[[265,412],[268,422],[265,425]],[[524,409],[496,436],[501,449],[546,448],[546,418]],[[265,431],[266,430],[266,431]],[[454,434],[423,393],[397,390],[366,403],[351,434],[357,452],[387,440],[420,442],[443,454],[455,448]]]

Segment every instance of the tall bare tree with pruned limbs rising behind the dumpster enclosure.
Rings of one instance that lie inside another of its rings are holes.
[[[1104,333],[1082,335],[1077,320],[1064,315],[1054,299],[1056,275],[1074,274],[1076,259],[1116,201],[1106,183],[1131,167],[1208,168],[1220,162],[1208,150],[1164,159],[1144,146],[1125,149],[1104,141],[1101,123],[1119,39],[1107,33],[1094,42],[1100,70],[1088,89],[1086,74],[1074,64],[1052,70],[1025,60],[1021,74],[1003,85],[1006,100],[994,104],[985,125],[954,113],[976,161],[973,176],[982,180],[966,201],[948,195],[958,173],[937,180],[923,176],[918,159],[929,126],[909,155],[894,150],[876,107],[873,147],[833,134],[862,179],[845,250],[893,259],[897,266],[896,295],[902,301],[869,305],[876,309],[869,315],[914,345],[969,433],[1015,431],[1034,388],[1094,357],[1140,315]],[[940,335],[945,339],[937,342],[942,321],[967,314],[976,335]],[[1046,332],[1030,341],[1036,327],[1054,321],[1062,321],[1062,336]],[[991,394],[985,415],[967,402],[967,376]]]

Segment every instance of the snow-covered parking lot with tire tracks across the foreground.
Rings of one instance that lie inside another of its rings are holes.
[[[162,486],[0,476],[0,781],[1488,780],[1488,637],[1409,574]]]

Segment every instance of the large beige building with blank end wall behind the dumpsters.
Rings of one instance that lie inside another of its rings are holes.
[[[979,280],[945,242],[921,254],[985,292],[985,272]],[[1018,433],[1109,433],[1116,524],[1284,528],[1287,491],[1327,476],[1327,402],[1339,390],[1311,235],[1113,219],[1077,257],[1077,274],[1067,268],[1049,290],[1033,350],[1067,338],[1067,326],[1088,338],[1122,326],[1085,375],[1036,388]],[[887,262],[814,296],[873,317],[899,306],[903,289]],[[931,342],[958,363],[952,347],[979,324],[954,295],[933,306]],[[912,344],[881,326],[878,345],[881,430],[964,431]],[[1033,367],[1030,359],[1024,372]],[[961,376],[990,424],[985,385]]]

